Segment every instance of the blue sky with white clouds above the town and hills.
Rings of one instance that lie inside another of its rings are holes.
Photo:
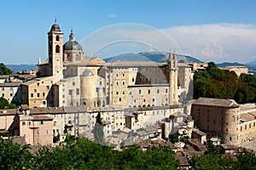
[[[64,42],[73,29],[90,57],[176,51],[203,62],[256,59],[254,0],[0,1],[0,62],[47,59],[55,19]]]

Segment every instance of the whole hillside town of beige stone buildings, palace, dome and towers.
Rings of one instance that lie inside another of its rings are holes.
[[[207,150],[208,140],[225,152],[256,136],[255,104],[193,99],[194,74],[206,70],[207,63],[178,62],[172,51],[166,63],[90,58],[73,30],[63,42],[56,22],[48,32],[48,54],[35,71],[0,77],[1,97],[24,101],[17,109],[0,111],[2,136],[45,146],[64,144],[67,134],[94,141],[100,114],[104,140],[116,150],[166,145],[177,159],[185,158],[184,166],[193,154]],[[237,77],[250,74],[246,66],[221,70]]]

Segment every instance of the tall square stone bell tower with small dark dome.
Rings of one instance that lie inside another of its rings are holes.
[[[51,26],[48,32],[48,60],[49,76],[53,77],[53,82],[58,82],[63,78],[63,32],[60,26],[55,24]]]

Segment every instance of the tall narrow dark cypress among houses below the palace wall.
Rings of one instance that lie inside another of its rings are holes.
[[[102,116],[101,113],[98,112],[96,116],[96,123],[93,129],[94,139],[97,144],[104,144],[104,133],[103,133],[103,125],[102,125]]]

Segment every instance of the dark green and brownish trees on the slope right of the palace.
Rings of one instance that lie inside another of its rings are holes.
[[[194,99],[200,97],[235,99],[239,104],[255,103],[256,77],[237,77],[234,71],[225,73],[210,62],[207,71],[198,71],[194,76]]]

